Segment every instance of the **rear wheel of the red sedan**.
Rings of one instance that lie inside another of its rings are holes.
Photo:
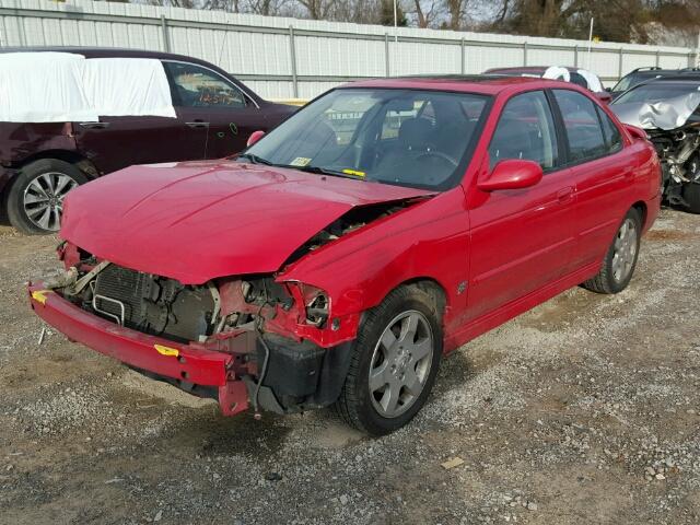
[[[632,208],[618,228],[600,271],[583,285],[597,293],[618,293],[625,290],[634,273],[641,234],[641,214],[637,208]]]

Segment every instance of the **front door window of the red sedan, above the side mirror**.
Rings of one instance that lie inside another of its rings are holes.
[[[505,104],[489,158],[491,167],[508,159],[535,161],[545,171],[558,165],[557,133],[544,92],[516,95]]]

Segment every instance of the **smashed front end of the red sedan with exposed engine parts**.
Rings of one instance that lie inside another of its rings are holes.
[[[224,415],[325,407],[342,387],[361,314],[335,314],[328,291],[287,270],[417,201],[351,208],[289,255],[281,270],[201,284],[137,271],[63,242],[65,271],[30,283],[32,307],[73,341],[217,399]]]

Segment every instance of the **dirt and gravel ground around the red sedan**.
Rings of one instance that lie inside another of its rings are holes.
[[[22,283],[55,244],[0,230],[0,523],[700,523],[698,215],[663,211],[623,293],[570,290],[455,352],[378,440],[38,346]]]

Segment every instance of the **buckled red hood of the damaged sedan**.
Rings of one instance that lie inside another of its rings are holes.
[[[277,271],[350,209],[424,195],[231,161],[132,166],[71,191],[60,236],[116,265],[199,284]]]

